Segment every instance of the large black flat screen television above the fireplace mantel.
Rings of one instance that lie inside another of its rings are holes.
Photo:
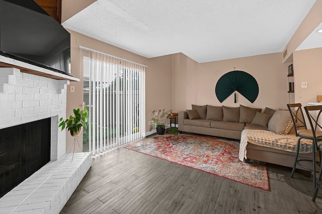
[[[70,34],[33,0],[0,0],[0,55],[70,75]]]

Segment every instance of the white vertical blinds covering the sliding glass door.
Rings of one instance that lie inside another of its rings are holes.
[[[145,137],[145,65],[81,48],[89,126],[83,145],[92,154]]]

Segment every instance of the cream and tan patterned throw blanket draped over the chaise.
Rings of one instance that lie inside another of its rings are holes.
[[[266,130],[243,130],[243,132],[241,132],[239,145],[239,160],[244,161],[244,158],[247,159],[247,143],[295,153],[298,138],[299,137],[296,137],[295,135],[279,135]],[[310,152],[312,152],[312,141],[308,139],[301,139],[299,153]]]

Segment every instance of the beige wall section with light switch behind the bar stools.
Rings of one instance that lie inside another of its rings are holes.
[[[322,95],[322,48],[295,51],[293,53],[295,102],[307,105]],[[307,82],[307,88],[302,88]]]

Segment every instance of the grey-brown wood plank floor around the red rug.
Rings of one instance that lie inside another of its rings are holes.
[[[61,214],[321,213],[312,178],[267,164],[270,191],[124,148],[92,157],[92,167]],[[236,169],[237,171],[238,169]]]

